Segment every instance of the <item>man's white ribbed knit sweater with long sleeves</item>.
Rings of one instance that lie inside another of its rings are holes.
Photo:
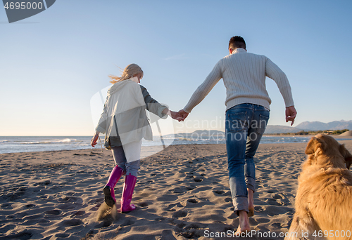
[[[286,107],[293,106],[291,86],[286,74],[264,55],[247,53],[244,48],[236,48],[215,65],[203,84],[193,93],[184,111],[191,112],[220,79],[223,79],[226,87],[226,109],[241,103],[253,103],[269,109],[271,99],[266,91],[265,76],[275,81]]]

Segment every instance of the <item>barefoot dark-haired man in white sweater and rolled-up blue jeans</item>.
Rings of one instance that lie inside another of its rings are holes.
[[[265,88],[265,76],[273,79],[286,105],[286,122],[294,124],[296,109],[286,74],[264,55],[247,53],[246,42],[233,36],[230,55],[222,58],[179,113],[186,118],[211,89],[223,79],[226,87],[226,148],[230,189],[234,211],[239,215],[236,234],[250,230],[249,216],[254,214],[253,193],[256,175],[253,156],[269,120],[271,100]]]

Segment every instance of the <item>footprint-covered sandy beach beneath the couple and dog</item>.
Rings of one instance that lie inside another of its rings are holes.
[[[352,151],[351,140],[341,142]],[[279,233],[288,231],[305,147],[260,145],[250,222],[264,235],[251,239],[283,239]],[[225,145],[170,146],[144,159],[137,209],[127,214],[103,203],[112,168],[111,152],[100,149],[0,154],[0,239],[232,239],[207,237],[239,224]]]

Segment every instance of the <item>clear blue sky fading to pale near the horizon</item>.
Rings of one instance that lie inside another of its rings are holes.
[[[287,74],[294,126],[352,120],[351,10],[352,1],[57,0],[9,24],[1,8],[0,135],[92,135],[90,99],[132,62],[151,96],[178,111],[235,35]],[[289,126],[275,82],[267,87],[269,124]],[[175,129],[224,131],[224,120],[220,80]]]

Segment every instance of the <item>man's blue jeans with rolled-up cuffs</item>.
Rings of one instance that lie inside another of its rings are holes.
[[[234,211],[249,211],[247,188],[256,190],[253,156],[269,120],[269,110],[244,103],[226,112],[226,149]]]

